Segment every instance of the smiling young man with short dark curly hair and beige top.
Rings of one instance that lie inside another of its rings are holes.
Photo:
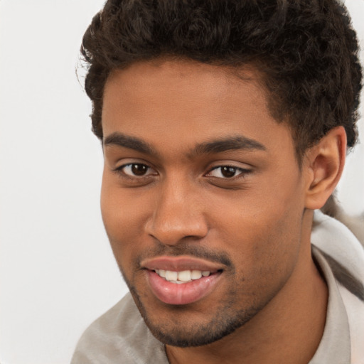
[[[130,294],[72,363],[364,363],[363,248],[314,213],[355,144],[343,6],[110,0],[82,54]]]

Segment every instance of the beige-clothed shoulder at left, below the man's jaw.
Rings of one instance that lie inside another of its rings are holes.
[[[164,363],[165,357],[128,293],[86,329],[71,364]]]

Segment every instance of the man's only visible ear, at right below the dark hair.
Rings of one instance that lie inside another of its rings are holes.
[[[314,210],[326,203],[343,173],[345,157],[346,132],[343,127],[331,129],[318,144],[306,151],[306,208]]]

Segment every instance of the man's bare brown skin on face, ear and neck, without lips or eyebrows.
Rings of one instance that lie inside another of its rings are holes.
[[[345,132],[331,130],[299,168],[289,128],[269,113],[259,75],[241,73],[249,80],[213,65],[161,60],[114,70],[105,85],[104,141],[118,132],[154,150],[104,145],[102,217],[171,363],[303,364],[323,333],[328,293],[311,258],[311,222],[340,178]],[[192,153],[197,144],[237,136],[264,150]],[[127,164],[137,168],[120,168]],[[236,167],[234,176],[219,166]],[[141,261],[194,252],[228,257],[220,282],[193,304],[159,301]],[[235,331],[220,338],[229,326]],[[191,338],[208,345],[176,346]]]

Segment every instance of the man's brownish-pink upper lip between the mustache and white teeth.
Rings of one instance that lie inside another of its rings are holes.
[[[141,267],[149,270],[164,269],[175,272],[181,272],[183,270],[200,270],[203,272],[217,272],[223,269],[223,266],[210,262],[205,259],[194,257],[155,257],[150,259],[144,259],[141,262]]]

